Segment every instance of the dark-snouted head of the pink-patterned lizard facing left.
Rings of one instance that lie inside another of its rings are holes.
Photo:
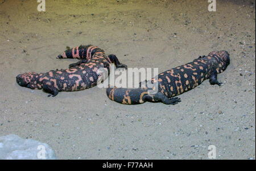
[[[34,85],[36,77],[38,77],[36,72],[25,72],[16,76],[16,82],[19,86],[35,89],[37,88],[37,86]]]

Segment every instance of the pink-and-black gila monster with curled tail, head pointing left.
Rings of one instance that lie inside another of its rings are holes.
[[[81,45],[67,49],[62,55],[58,55],[57,58],[77,58],[81,60],[72,63],[69,65],[69,69],[65,70],[19,74],[16,76],[16,82],[19,86],[43,89],[51,93],[48,97],[54,97],[60,91],[79,91],[96,86],[98,79],[101,79],[103,75],[102,72],[97,73],[97,71],[101,68],[109,71],[110,63],[114,63],[117,68],[123,67],[127,69],[127,66],[121,64],[114,54],[105,55],[104,50],[92,45]]]

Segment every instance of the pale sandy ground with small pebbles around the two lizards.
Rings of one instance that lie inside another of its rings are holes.
[[[255,159],[255,1],[0,0],[0,136],[48,143],[58,159]],[[212,50],[231,63],[180,95],[177,105],[122,105],[105,89],[56,97],[19,87],[15,76],[65,69],[66,46],[93,44],[129,67],[159,72]]]

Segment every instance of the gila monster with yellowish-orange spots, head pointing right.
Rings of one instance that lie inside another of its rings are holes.
[[[217,74],[223,72],[229,65],[229,53],[225,50],[210,52],[207,56],[200,56],[193,62],[175,67],[152,78],[151,83],[158,85],[158,91],[150,94],[148,90],[156,88],[107,88],[106,93],[110,100],[121,104],[142,104],[143,102],[163,102],[175,105],[180,98],[174,97],[187,92],[204,80],[209,79],[210,84],[221,86],[217,80]]]

